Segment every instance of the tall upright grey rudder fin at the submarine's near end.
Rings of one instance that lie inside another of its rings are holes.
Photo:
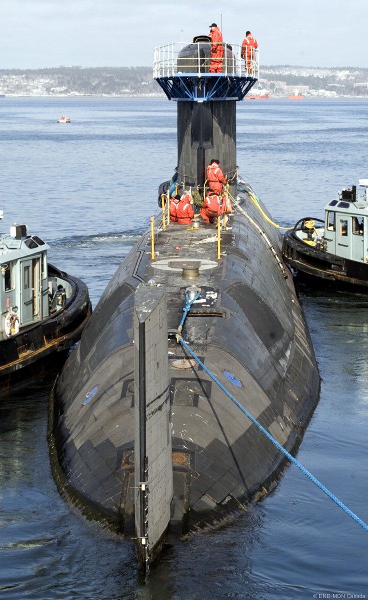
[[[173,499],[165,286],[135,292],[135,531],[147,571],[161,550]]]

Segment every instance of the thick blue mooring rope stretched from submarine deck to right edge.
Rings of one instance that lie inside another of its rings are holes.
[[[188,298],[188,294],[186,294],[186,307],[183,308],[184,311],[184,316],[182,318],[182,321],[180,322],[180,328],[182,328],[182,325],[185,321],[185,317],[188,314],[191,305],[193,304],[193,302],[198,298],[198,296],[200,295],[200,292],[197,293],[197,296],[195,296],[194,299],[192,299],[189,302],[189,298]],[[181,329],[179,329],[179,331],[181,331]],[[302,464],[299,463],[299,461],[296,460],[296,458],[294,458],[291,454],[289,454],[289,452],[287,450],[285,450],[285,448],[283,448],[283,446],[277,442],[277,440],[275,440],[275,437],[273,437],[268,431],[266,431],[266,429],[264,427],[262,427],[262,425],[260,423],[258,423],[258,421],[255,420],[254,417],[252,417],[252,415],[248,412],[248,410],[246,410],[242,404],[240,404],[236,398],[234,398],[233,395],[230,394],[230,392],[227,391],[227,389],[224,388],[224,386],[222,385],[222,383],[219,382],[218,379],[216,379],[216,377],[207,369],[207,367],[204,366],[203,362],[198,358],[197,355],[195,355],[194,352],[192,352],[192,350],[189,348],[188,344],[185,343],[185,341],[183,340],[182,336],[180,334],[177,334],[176,336],[177,341],[180,342],[180,344],[182,344],[182,346],[184,346],[186,348],[186,350],[188,350],[189,354],[191,354],[193,356],[193,358],[195,358],[195,360],[198,362],[198,364],[201,365],[201,367],[203,368],[204,371],[206,371],[207,375],[209,375],[211,377],[211,379],[213,379],[213,381],[215,383],[217,383],[217,385],[219,386],[219,388],[222,389],[223,392],[225,392],[225,394],[230,398],[230,400],[233,400],[234,404],[236,404],[236,406],[246,415],[248,416],[248,419],[251,419],[252,423],[254,423],[254,425],[256,425],[256,427],[258,427],[258,429],[260,431],[262,431],[262,433],[264,433],[264,435],[270,440],[270,442],[273,443],[274,446],[276,446],[276,448],[278,448],[283,454],[285,454],[286,458],[289,459],[289,461],[291,461],[291,463],[294,463],[295,466],[298,467],[298,469],[301,470],[302,473],[304,473],[304,475],[307,476],[307,478],[310,479],[310,481],[313,481],[313,484],[315,484],[317,487],[319,487],[320,490],[324,491],[325,494],[327,494],[327,496],[329,498],[331,498],[331,500],[333,500],[337,506],[340,506],[340,508],[343,509],[343,511],[346,512],[346,514],[349,515],[349,517],[351,517],[352,519],[354,519],[354,521],[356,521],[358,523],[358,525],[360,525],[361,527],[363,527],[364,530],[366,530],[368,532],[368,525],[366,523],[364,523],[364,521],[362,521],[357,515],[355,515],[354,512],[352,512],[347,506],[345,506],[345,504],[343,504],[342,502],[340,502],[340,500],[334,496],[330,490],[327,490],[327,487],[325,487],[323,484],[321,484],[320,481],[318,481],[318,479],[315,478],[315,476],[312,475],[312,473],[310,473],[305,467],[303,467]]]

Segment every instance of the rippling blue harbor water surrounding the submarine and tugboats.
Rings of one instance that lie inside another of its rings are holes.
[[[281,226],[322,218],[338,190],[368,177],[367,134],[368,99],[245,100],[239,172]],[[28,224],[51,245],[51,263],[86,281],[95,307],[174,173],[176,104],[1,98],[0,140],[2,231]],[[321,394],[297,459],[368,523],[368,298],[308,289],[300,298]],[[166,548],[143,578],[129,539],[58,494],[52,382],[50,373],[0,398],[1,600],[368,598],[368,532],[293,465],[242,517]]]

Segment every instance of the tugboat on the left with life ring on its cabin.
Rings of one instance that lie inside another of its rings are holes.
[[[49,248],[26,225],[0,236],[0,391],[65,359],[91,316],[86,284],[47,264]]]

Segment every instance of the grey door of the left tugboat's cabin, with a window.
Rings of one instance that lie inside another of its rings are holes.
[[[20,325],[41,317],[40,257],[20,261]]]

